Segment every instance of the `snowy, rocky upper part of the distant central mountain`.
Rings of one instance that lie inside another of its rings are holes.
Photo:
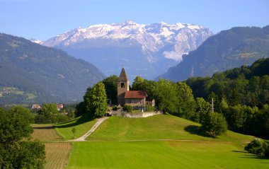
[[[198,32],[200,30],[200,33]],[[200,25],[191,25],[186,23],[176,23],[169,25],[167,23],[139,24],[135,21],[125,21],[125,23],[98,24],[90,25],[88,28],[77,28],[70,30],[57,37],[52,37],[44,42],[43,45],[55,47],[57,45],[69,46],[84,40],[95,40],[98,38],[106,40],[136,40],[142,45],[144,50],[158,52],[166,45],[181,44],[183,51],[165,51],[164,57],[169,59],[181,60],[184,52],[196,49],[201,42],[210,37],[212,33],[207,28]],[[197,39],[201,42],[197,44]],[[191,45],[189,43],[192,43]],[[180,52],[178,52],[180,51]],[[149,61],[154,60],[149,57]]]

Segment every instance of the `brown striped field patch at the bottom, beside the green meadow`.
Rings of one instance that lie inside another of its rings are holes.
[[[70,143],[46,143],[46,164],[47,169],[62,169],[69,161],[69,153],[71,152]]]

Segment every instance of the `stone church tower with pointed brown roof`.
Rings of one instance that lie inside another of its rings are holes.
[[[118,77],[118,104],[125,104],[125,92],[129,91],[129,79],[127,78],[125,69],[122,68],[120,76]]]

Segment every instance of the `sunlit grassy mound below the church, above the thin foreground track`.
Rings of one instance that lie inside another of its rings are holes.
[[[96,132],[88,136],[90,141],[124,141],[144,139],[184,139],[203,141],[232,141],[245,144],[253,136],[228,131],[217,139],[198,131],[200,124],[172,115],[155,115],[147,118],[110,117]]]

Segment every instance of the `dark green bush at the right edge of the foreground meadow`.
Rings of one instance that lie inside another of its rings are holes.
[[[246,147],[248,153],[257,154],[259,156],[269,156],[269,144],[262,139],[253,139]]]

